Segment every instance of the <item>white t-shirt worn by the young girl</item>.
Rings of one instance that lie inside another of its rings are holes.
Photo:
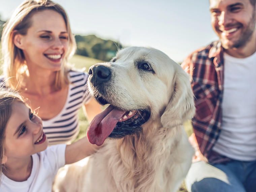
[[[65,144],[56,145],[32,155],[32,170],[26,181],[12,181],[2,174],[0,191],[51,192],[52,184],[58,169],[65,165],[65,149]]]

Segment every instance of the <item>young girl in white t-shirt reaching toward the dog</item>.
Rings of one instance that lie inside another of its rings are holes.
[[[41,119],[21,96],[0,90],[0,191],[51,192],[58,169],[98,147],[86,137],[48,147]]]

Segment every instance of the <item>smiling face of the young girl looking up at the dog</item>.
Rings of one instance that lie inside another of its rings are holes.
[[[22,159],[47,148],[41,119],[22,102],[14,101],[5,130],[5,151],[8,159]]]

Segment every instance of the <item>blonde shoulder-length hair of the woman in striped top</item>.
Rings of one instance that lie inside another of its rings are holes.
[[[66,11],[57,3],[50,0],[25,0],[20,6],[15,9],[11,18],[6,22],[2,32],[2,56],[3,56],[3,72],[6,84],[11,89],[19,89],[22,84],[22,77],[28,74],[26,60],[21,49],[13,43],[15,34],[26,35],[27,30],[31,27],[31,17],[37,11],[54,10],[60,13],[65,21],[69,46],[66,53],[66,58],[60,71],[56,72],[55,88],[60,90],[63,86],[69,83],[68,81],[68,59],[73,56],[76,50],[76,43],[73,34],[71,33],[69,20]],[[14,78],[9,78],[14,77]]]

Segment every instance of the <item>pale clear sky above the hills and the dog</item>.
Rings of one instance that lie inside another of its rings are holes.
[[[0,0],[7,20],[23,0]],[[208,0],[55,0],[67,11],[74,34],[95,34],[124,46],[150,46],[182,62],[217,40]]]

